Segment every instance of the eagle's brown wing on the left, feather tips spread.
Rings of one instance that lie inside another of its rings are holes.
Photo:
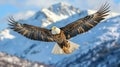
[[[40,28],[28,24],[21,24],[14,20],[14,18],[9,18],[11,29],[14,31],[24,35],[27,38],[32,40],[39,40],[39,41],[54,41],[52,38],[52,34],[50,30],[45,28]]]

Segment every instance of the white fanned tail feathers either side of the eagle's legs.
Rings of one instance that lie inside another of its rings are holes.
[[[69,51],[70,53],[74,52],[76,49],[79,48],[80,45],[76,44],[76,43],[73,43],[71,41],[70,42],[70,48],[69,48]],[[60,47],[58,44],[55,44],[55,46],[53,47],[53,50],[52,50],[52,53],[53,54],[66,54]]]

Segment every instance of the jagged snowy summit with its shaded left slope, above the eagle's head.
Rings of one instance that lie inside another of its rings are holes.
[[[70,16],[80,13],[78,8],[67,3],[57,3],[48,8],[43,8],[36,12],[27,20],[22,20],[23,23],[28,23],[35,26],[47,27],[52,23],[67,19]]]

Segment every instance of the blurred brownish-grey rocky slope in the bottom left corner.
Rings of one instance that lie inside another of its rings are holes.
[[[0,52],[0,67],[50,67],[43,63],[30,62],[21,58]]]

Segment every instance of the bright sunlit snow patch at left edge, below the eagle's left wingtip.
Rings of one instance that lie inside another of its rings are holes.
[[[5,29],[0,32],[0,40],[13,39],[13,38],[15,38],[15,37],[10,34],[10,30],[8,30],[8,29]]]

